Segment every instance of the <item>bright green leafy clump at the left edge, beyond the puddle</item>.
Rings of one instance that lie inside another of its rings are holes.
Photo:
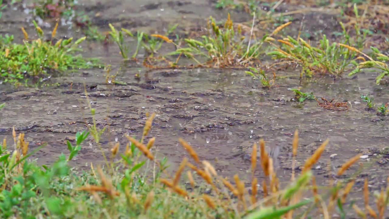
[[[38,39],[30,39],[22,28],[25,39],[23,44],[14,43],[13,35],[0,36],[0,80],[19,85],[28,81],[42,82],[53,75],[61,74],[68,69],[86,69],[95,66],[96,60],[86,60],[81,55],[79,44],[86,39],[82,37],[60,39],[56,42],[58,23],[55,26],[51,40],[44,39],[43,30],[35,23]],[[46,79],[45,79],[46,78]]]

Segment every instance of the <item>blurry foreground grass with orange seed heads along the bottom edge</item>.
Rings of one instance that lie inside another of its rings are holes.
[[[95,115],[95,109],[90,109],[92,115]],[[124,143],[127,146],[123,152],[119,151],[120,143],[117,142],[112,146],[110,156],[103,152],[104,157],[110,157],[104,167],[91,163],[90,170],[86,171],[71,168],[69,162],[77,156],[89,133],[95,143],[101,145],[100,138],[105,129],[97,130],[93,125],[89,132],[78,132],[75,136],[76,145],[67,142],[70,154],[62,154],[50,166],[39,166],[28,159],[44,145],[28,153],[29,143],[25,135],[21,133],[17,136],[13,130],[13,144],[10,145],[4,139],[0,147],[0,215],[2,218],[276,219],[307,217],[313,214],[313,210],[317,210],[324,218],[329,218],[335,212],[345,213],[343,205],[354,181],[339,181],[336,185],[323,186],[323,192],[318,194],[311,171],[328,140],[305,161],[300,175],[295,176],[293,173],[290,184],[284,188],[279,185],[273,158],[265,150],[265,141],[260,140],[260,164],[266,178],[262,182],[262,189],[259,189],[258,178],[254,175],[258,171],[258,148],[254,144],[249,191],[244,178],[236,174],[234,183],[231,183],[219,175],[210,162],[201,160],[193,147],[182,139],[179,140],[180,144],[195,163],[192,164],[184,157],[177,171],[170,175],[166,171],[166,159],[160,160],[154,155],[154,148],[157,147],[154,145],[155,138],[146,139],[155,116],[153,113],[147,119],[140,141],[126,136],[128,143]],[[297,149],[296,131],[293,140],[294,159],[298,159]],[[352,157],[339,168],[337,175],[343,175],[358,160],[359,155]],[[184,186],[182,177],[185,172],[190,184]],[[366,180],[366,212],[355,204],[353,208],[357,214],[383,218],[388,205],[389,187],[377,196],[379,204],[377,210],[374,210],[368,205],[367,185]],[[310,191],[313,191],[314,196],[308,195]]]

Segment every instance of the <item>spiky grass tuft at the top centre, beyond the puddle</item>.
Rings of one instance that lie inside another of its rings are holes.
[[[185,55],[192,58],[199,65],[208,65],[212,67],[231,67],[247,66],[249,63],[258,61],[258,58],[265,54],[262,45],[268,42],[272,35],[277,34],[280,30],[290,23],[281,25],[275,29],[272,34],[264,35],[261,39],[254,39],[253,26],[255,14],[253,16],[253,25],[248,38],[242,33],[242,26],[234,23],[228,14],[224,26],[219,26],[212,16],[209,18],[206,30],[207,35],[202,35],[200,39],[185,39],[185,48],[178,48],[175,52],[168,55]],[[235,25],[236,26],[236,25]],[[203,57],[207,62],[201,63],[198,58]]]

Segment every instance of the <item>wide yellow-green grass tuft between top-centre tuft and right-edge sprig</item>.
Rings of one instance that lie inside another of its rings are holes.
[[[357,10],[355,8],[355,10]],[[294,39],[291,36],[279,39],[280,46],[275,45],[275,49],[268,53],[275,59],[295,62],[302,66],[300,78],[304,75],[312,77],[314,73],[331,74],[334,76],[342,76],[349,69],[350,65],[357,66],[358,52],[363,49],[366,40],[366,32],[361,34],[359,25],[354,25],[355,37],[351,37],[345,26],[342,26],[342,43],[330,43],[326,35],[322,36],[317,46],[311,45],[299,36]],[[345,48],[342,45],[347,45],[350,48]],[[354,46],[351,46],[354,45]]]

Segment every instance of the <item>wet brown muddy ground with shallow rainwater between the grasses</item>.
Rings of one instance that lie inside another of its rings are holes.
[[[107,30],[108,23],[144,31],[179,23],[183,30],[190,30],[199,22],[204,23],[210,15],[223,18],[226,14],[226,11],[214,9],[208,1],[135,0],[128,4],[116,0],[109,5],[81,2],[86,9],[100,13],[95,22],[102,30]],[[237,20],[249,20],[247,14],[241,13],[235,13]],[[13,17],[7,13],[4,16],[2,33],[21,37],[14,25],[26,25],[25,20],[18,18],[20,21],[11,23]],[[70,32],[65,27],[61,30],[63,34]],[[58,87],[0,85],[0,102],[6,103],[0,115],[0,139],[6,137],[11,142],[11,130],[15,126],[17,132],[26,133],[31,149],[47,143],[34,156],[38,162],[50,163],[61,153],[68,153],[65,141],[74,140],[77,131],[86,130],[86,124],[91,124],[85,83],[90,102],[96,108],[98,126],[108,127],[102,138],[104,152],[109,153],[111,142],[116,138],[122,142],[123,150],[124,134],[141,136],[146,113],[156,112],[150,133],[150,137],[156,137],[154,152],[158,157],[167,157],[172,169],[187,156],[178,143],[178,138],[184,138],[202,159],[211,161],[223,175],[231,177],[239,173],[243,178],[248,177],[251,147],[263,138],[275,157],[281,182],[287,182],[291,176],[293,133],[299,129],[296,171],[321,142],[329,138],[330,143],[313,170],[318,184],[335,179],[331,172],[347,159],[363,153],[368,158],[359,162],[363,170],[353,195],[360,196],[366,177],[372,190],[386,185],[389,117],[366,111],[360,98],[361,94],[369,94],[377,105],[388,102],[387,85],[375,85],[375,72],[365,71],[354,78],[345,76],[336,80],[317,77],[301,86],[303,92],[314,92],[316,97],[351,103],[347,111],[331,111],[317,106],[316,101],[304,104],[293,101],[290,89],[298,88],[300,83],[300,69],[295,67],[278,71],[276,86],[268,90],[241,69],[145,69],[134,61],[122,62],[114,44],[103,46],[91,42],[84,55],[99,57],[112,65],[112,72],[119,71],[116,80],[126,85],[106,84],[103,68],[52,78],[53,83],[60,83]],[[141,75],[140,80],[134,78],[137,73]],[[100,148],[89,139],[73,164],[85,166],[102,160]],[[357,170],[359,166],[354,165],[345,177]],[[261,171],[257,175],[263,178]]]

